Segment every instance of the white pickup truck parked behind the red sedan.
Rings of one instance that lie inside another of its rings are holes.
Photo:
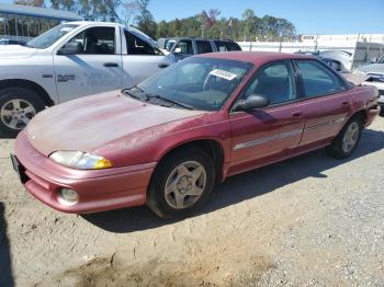
[[[144,33],[116,23],[70,22],[0,47],[0,137],[14,137],[46,106],[131,88],[172,62]]]

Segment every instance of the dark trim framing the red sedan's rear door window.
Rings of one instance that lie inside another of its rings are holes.
[[[349,90],[351,90],[353,87],[350,87],[346,80],[343,78],[341,78],[337,71],[335,71],[334,69],[331,69],[328,65],[326,65],[325,62],[318,60],[318,59],[293,59],[293,66],[296,69],[297,72],[297,78],[300,81],[300,87],[301,87],[301,100],[305,101],[305,100],[310,100],[310,99],[318,99],[318,97],[323,97],[323,96],[327,96],[327,95],[335,95],[337,93],[342,93],[342,92],[347,92]],[[318,62],[321,67],[324,67],[325,69],[327,69],[331,74],[334,74],[339,81],[340,84],[345,88],[345,90],[340,90],[340,91],[335,91],[335,92],[330,92],[330,93],[325,93],[325,94],[319,94],[319,95],[315,95],[315,96],[306,96],[305,94],[305,88],[304,88],[304,79],[303,79],[303,74],[301,72],[301,70],[298,69],[298,61],[312,61],[312,62]]]

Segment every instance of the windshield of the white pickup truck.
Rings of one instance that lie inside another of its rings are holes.
[[[66,35],[76,27],[78,27],[78,25],[75,24],[58,25],[39,35],[38,37],[35,37],[34,39],[30,41],[27,43],[27,47],[45,49],[52,46],[55,42],[57,42],[59,38],[61,38],[64,35]]]

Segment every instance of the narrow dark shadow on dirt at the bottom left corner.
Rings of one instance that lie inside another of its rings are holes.
[[[11,250],[7,236],[4,204],[0,203],[0,286],[11,287],[13,284]]]

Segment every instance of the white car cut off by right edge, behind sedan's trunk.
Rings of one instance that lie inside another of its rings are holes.
[[[366,76],[368,79],[363,84],[375,85],[379,90],[379,104],[384,107],[384,55],[374,62],[360,66],[353,71],[355,74]]]

